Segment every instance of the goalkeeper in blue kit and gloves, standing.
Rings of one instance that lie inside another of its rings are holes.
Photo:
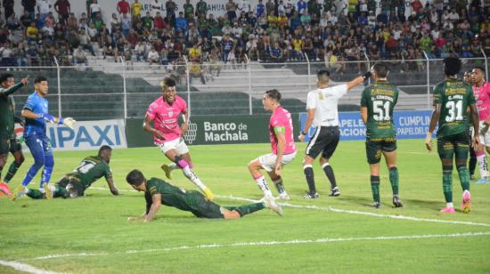
[[[45,77],[37,77],[34,80],[35,92],[29,95],[21,115],[26,118],[26,126],[24,128],[24,140],[34,157],[34,165],[31,165],[28,173],[17,189],[12,193],[12,200],[26,194],[29,189],[29,182],[36,176],[37,171],[43,168],[39,191],[45,192],[45,183],[51,179],[53,173],[53,149],[51,142],[46,135],[46,122],[59,125],[66,125],[69,128],[75,126],[75,120],[70,117],[53,117],[48,111],[48,101],[45,95],[48,93],[48,82]]]

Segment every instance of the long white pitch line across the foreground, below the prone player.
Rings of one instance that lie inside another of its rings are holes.
[[[112,254],[110,253],[51,254],[48,256],[23,259],[20,261],[39,261],[39,260],[49,260],[49,259],[64,258],[64,257],[159,253],[159,252],[170,252],[170,251],[178,251],[178,250],[198,250],[198,249],[241,247],[241,246],[287,246],[287,245],[319,244],[319,243],[333,243],[333,242],[387,241],[387,240],[427,239],[427,238],[468,238],[468,237],[482,237],[482,236],[490,236],[490,231],[452,233],[452,234],[358,237],[358,238],[292,239],[288,241],[270,241],[270,242],[265,242],[265,241],[237,242],[232,244],[208,244],[208,245],[197,245],[197,246],[176,246],[176,247],[154,248],[154,249],[143,249],[143,250],[127,250],[125,252],[117,252]]]

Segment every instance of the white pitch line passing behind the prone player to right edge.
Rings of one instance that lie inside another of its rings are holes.
[[[109,189],[105,189],[105,188],[90,188],[90,189],[109,190]],[[121,190],[119,190],[119,191],[121,191]],[[122,190],[122,191],[137,192],[136,190]],[[225,198],[225,199],[229,199],[229,200],[245,201],[245,202],[250,202],[250,203],[257,203],[258,202],[257,200],[250,199],[247,197],[234,197],[232,195],[230,195],[230,196],[215,195],[215,197]],[[426,218],[404,216],[404,215],[375,214],[372,212],[339,209],[339,208],[334,208],[331,206],[324,207],[324,206],[318,206],[318,205],[292,205],[290,203],[280,203],[280,204],[284,207],[290,207],[290,208],[296,208],[296,209],[312,209],[312,210],[319,210],[319,211],[326,211],[326,212],[333,212],[333,213],[342,213],[342,214],[358,214],[358,215],[365,215],[365,216],[371,216],[371,217],[380,217],[380,218],[397,219],[397,220],[409,220],[409,221],[415,221],[415,222],[439,222],[439,223],[450,223],[450,224],[462,224],[462,225],[470,225],[470,226],[490,227],[490,223],[483,223],[483,222],[447,221],[447,220],[426,219]]]

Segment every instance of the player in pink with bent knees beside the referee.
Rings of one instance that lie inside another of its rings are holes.
[[[277,90],[265,92],[262,104],[264,109],[272,111],[269,122],[269,136],[272,153],[257,157],[249,163],[249,172],[257,181],[258,188],[264,192],[265,198],[273,198],[271,189],[267,186],[261,169],[269,174],[279,192],[280,199],[290,199],[282,184],[282,165],[290,163],[296,157],[296,144],[294,143],[293,127],[290,112],[281,106],[281,93]]]

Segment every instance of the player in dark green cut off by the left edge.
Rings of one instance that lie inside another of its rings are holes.
[[[13,177],[13,174],[17,172],[20,164],[24,161],[22,155],[22,149],[20,143],[15,138],[13,133],[15,124],[15,102],[13,101],[12,93],[17,92],[20,87],[28,85],[28,78],[23,78],[20,83],[15,84],[13,75],[10,73],[4,73],[0,76],[0,179],[2,176],[2,170],[7,163],[7,157],[9,151],[15,157],[15,161],[9,168],[9,172],[5,176],[5,182],[8,183]],[[9,196],[11,191],[6,183],[0,182],[0,193],[4,193]]]

